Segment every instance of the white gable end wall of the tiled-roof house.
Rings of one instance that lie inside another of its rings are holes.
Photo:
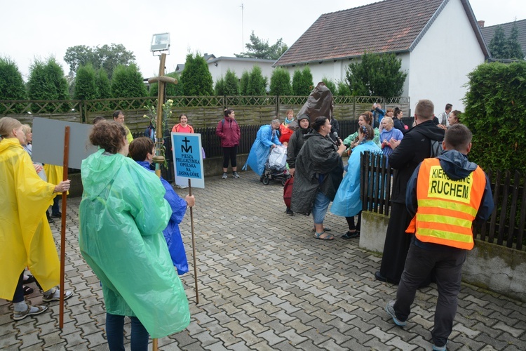
[[[411,111],[420,99],[433,101],[435,114],[443,112],[446,103],[464,111],[467,74],[484,59],[460,0],[449,1],[410,54]]]

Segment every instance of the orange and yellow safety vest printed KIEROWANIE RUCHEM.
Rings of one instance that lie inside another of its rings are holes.
[[[466,178],[452,180],[438,159],[424,159],[417,178],[417,215],[405,232],[423,242],[473,249],[473,220],[485,186],[479,166]]]

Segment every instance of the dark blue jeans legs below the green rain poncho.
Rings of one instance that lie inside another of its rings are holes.
[[[148,350],[148,331],[137,317],[131,319],[131,350]],[[110,351],[124,351],[124,316],[106,313],[106,336]]]

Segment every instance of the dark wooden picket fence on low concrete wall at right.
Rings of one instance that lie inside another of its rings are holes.
[[[364,152],[360,160],[360,194],[363,211],[389,216],[393,169],[384,155]],[[495,208],[476,239],[526,251],[526,177],[515,171],[488,171]]]

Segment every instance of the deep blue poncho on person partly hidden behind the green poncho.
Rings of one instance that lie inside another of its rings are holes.
[[[137,161],[137,164],[140,164],[149,172],[150,164],[148,161]],[[170,257],[172,258],[172,263],[175,268],[177,268],[177,273],[182,275],[188,272],[188,260],[187,253],[184,252],[184,244],[182,242],[181,231],[179,230],[179,223],[182,222],[184,214],[187,213],[187,201],[184,201],[179,195],[173,191],[172,185],[168,183],[163,177],[161,177],[161,183],[163,184],[166,194],[164,194],[164,199],[170,204],[172,208],[172,216],[168,221],[168,226],[163,230],[164,239],[168,245],[168,252],[170,252]]]

